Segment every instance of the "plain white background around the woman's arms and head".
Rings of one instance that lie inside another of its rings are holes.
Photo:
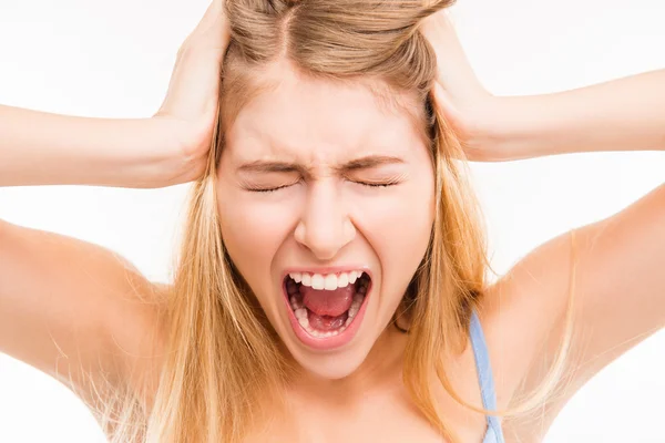
[[[149,116],[206,7],[207,0],[0,0],[0,103]],[[495,94],[554,92],[665,68],[662,0],[459,0],[453,17]],[[493,265],[503,272],[538,244],[663,183],[665,153],[569,155],[473,172]],[[0,218],[101,244],[167,281],[186,188],[3,188]],[[570,402],[546,442],[665,441],[664,351],[659,333],[606,368]],[[0,356],[0,442],[47,441],[103,437],[62,385]]]

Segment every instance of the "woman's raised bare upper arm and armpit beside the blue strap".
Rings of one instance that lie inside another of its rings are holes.
[[[611,217],[544,243],[488,288],[479,315],[499,406],[519,404],[556,375],[524,441],[539,441],[592,377],[665,327],[663,226],[659,186]]]

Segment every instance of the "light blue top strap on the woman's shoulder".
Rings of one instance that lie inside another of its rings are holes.
[[[475,371],[478,372],[478,381],[480,383],[482,405],[487,410],[495,411],[497,393],[494,392],[494,378],[492,377],[488,344],[475,311],[471,313],[470,338],[471,346],[473,347],[473,356],[475,356]],[[487,419],[488,431],[482,443],[505,443],[503,431],[501,430],[501,420],[495,415],[487,415]]]

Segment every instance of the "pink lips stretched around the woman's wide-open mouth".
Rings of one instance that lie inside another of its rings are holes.
[[[286,291],[286,276],[289,272],[310,272],[310,274],[332,274],[332,272],[345,272],[345,271],[350,271],[350,270],[362,270],[364,272],[367,272],[367,275],[369,275],[369,286],[367,287],[367,292],[365,295],[365,300],[362,300],[362,305],[360,306],[360,309],[358,310],[358,313],[356,315],[356,317],[354,317],[354,320],[351,321],[351,323],[347,327],[347,329],[344,330],[344,332],[335,336],[335,337],[325,337],[325,338],[318,338],[318,337],[313,337],[309,334],[309,332],[307,332],[298,322],[298,320],[296,319],[296,315],[294,312],[294,310],[290,307],[290,302],[288,299],[288,292]],[[365,311],[367,310],[367,306],[369,305],[369,300],[371,298],[371,293],[372,293],[372,278],[371,278],[371,274],[369,272],[368,269],[366,269],[365,267],[328,267],[328,268],[293,268],[289,269],[288,271],[286,271],[284,274],[284,277],[282,278],[282,295],[283,295],[283,299],[284,302],[286,303],[286,310],[287,310],[287,315],[288,315],[288,320],[291,323],[291,328],[295,332],[295,336],[298,338],[298,340],[307,346],[310,349],[317,350],[317,351],[330,351],[330,350],[336,350],[338,348],[341,348],[346,344],[348,344],[358,333],[358,330],[360,329],[360,324],[362,323],[362,319],[365,318]]]

